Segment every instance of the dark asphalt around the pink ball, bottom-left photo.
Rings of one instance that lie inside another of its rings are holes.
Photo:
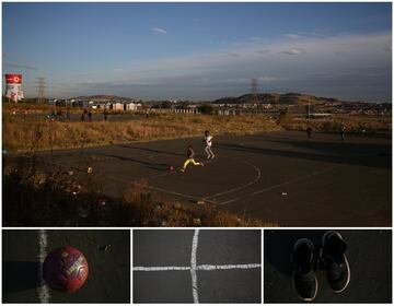
[[[49,303],[130,302],[130,231],[46,229],[46,234],[47,252],[65,245],[76,247],[86,257],[90,270],[86,283],[74,293],[46,286]],[[38,237],[36,229],[2,231],[3,303],[42,302]]]

